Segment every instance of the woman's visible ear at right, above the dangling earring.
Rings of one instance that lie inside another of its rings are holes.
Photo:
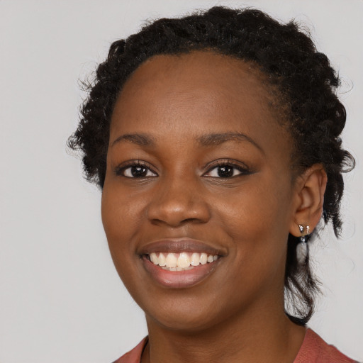
[[[323,213],[324,193],[328,177],[322,164],[313,164],[296,179],[294,190],[294,218],[289,232],[301,236],[298,225],[310,227],[310,233]]]

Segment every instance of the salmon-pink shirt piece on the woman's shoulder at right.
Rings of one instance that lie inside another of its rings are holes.
[[[306,330],[298,355],[294,363],[354,363],[355,361],[342,354],[333,345],[328,345],[313,330]]]

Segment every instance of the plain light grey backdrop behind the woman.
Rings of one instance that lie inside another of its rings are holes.
[[[118,279],[101,225],[99,190],[65,143],[84,79],[113,40],[145,20],[216,4],[253,6],[310,29],[342,77],[342,238],[313,246],[323,281],[310,326],[363,360],[363,1],[0,0],[0,362],[111,363],[147,333]]]

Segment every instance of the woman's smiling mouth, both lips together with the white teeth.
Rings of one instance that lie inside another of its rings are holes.
[[[157,284],[179,289],[206,279],[220,264],[225,251],[196,240],[162,240],[140,251],[141,261]]]

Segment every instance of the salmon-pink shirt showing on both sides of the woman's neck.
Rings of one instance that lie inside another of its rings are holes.
[[[124,354],[113,363],[140,363],[147,337],[133,350]],[[333,345],[328,345],[313,330],[306,330],[306,335],[294,363],[354,363],[355,361],[339,352]],[[356,362],[357,363],[357,362]]]

